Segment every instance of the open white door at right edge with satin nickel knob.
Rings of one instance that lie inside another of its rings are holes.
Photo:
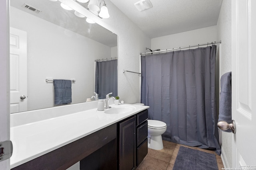
[[[256,169],[255,9],[256,0],[232,0],[232,168]]]

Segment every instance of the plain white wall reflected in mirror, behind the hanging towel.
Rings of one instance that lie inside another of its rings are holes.
[[[54,106],[53,83],[46,77],[74,78],[72,103],[93,95],[94,59],[110,58],[110,47],[14,7],[10,26],[27,32],[28,110]]]

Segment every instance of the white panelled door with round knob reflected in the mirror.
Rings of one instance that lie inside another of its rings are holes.
[[[27,101],[27,33],[10,27],[10,113],[26,111]]]

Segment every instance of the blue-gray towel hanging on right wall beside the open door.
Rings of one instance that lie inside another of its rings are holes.
[[[220,78],[220,108],[218,121],[232,121],[231,72],[223,74]],[[232,132],[230,129],[225,132]]]

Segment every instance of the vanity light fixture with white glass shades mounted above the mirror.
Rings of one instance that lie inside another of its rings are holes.
[[[104,0],[98,3],[98,0],[89,0],[88,2],[81,2],[83,0],[74,0],[80,6],[84,7],[86,10],[92,12],[92,14],[98,16],[99,18],[109,18],[108,8]],[[85,0],[86,1],[86,0]]]

